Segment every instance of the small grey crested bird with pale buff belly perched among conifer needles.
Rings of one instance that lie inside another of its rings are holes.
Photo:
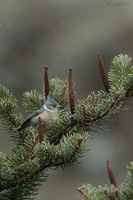
[[[57,122],[59,118],[59,110],[61,106],[55,100],[55,97],[49,92],[49,95],[46,99],[44,105],[39,109],[31,113],[22,124],[16,128],[17,132],[22,131],[23,129],[32,126],[37,127],[39,117],[41,118],[42,126],[45,131],[50,130]]]

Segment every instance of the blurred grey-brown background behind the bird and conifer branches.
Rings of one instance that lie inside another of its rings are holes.
[[[42,90],[44,66],[49,76],[66,79],[73,69],[76,98],[103,89],[97,65],[100,51],[107,69],[119,53],[133,55],[133,1],[130,0],[0,0],[0,82],[18,98],[23,92]],[[83,183],[110,184],[110,160],[118,184],[133,160],[132,100],[130,109],[108,123],[109,131],[92,134],[93,144],[80,163],[65,171],[51,171],[36,200],[77,200]],[[2,125],[0,126],[2,129]],[[0,131],[0,148],[12,144]]]

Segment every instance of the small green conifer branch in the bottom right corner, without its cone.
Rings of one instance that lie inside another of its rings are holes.
[[[82,194],[82,200],[132,200],[133,199],[133,162],[127,167],[127,177],[123,183],[116,187],[105,185],[104,187],[95,187],[91,184],[83,185],[78,188]]]

